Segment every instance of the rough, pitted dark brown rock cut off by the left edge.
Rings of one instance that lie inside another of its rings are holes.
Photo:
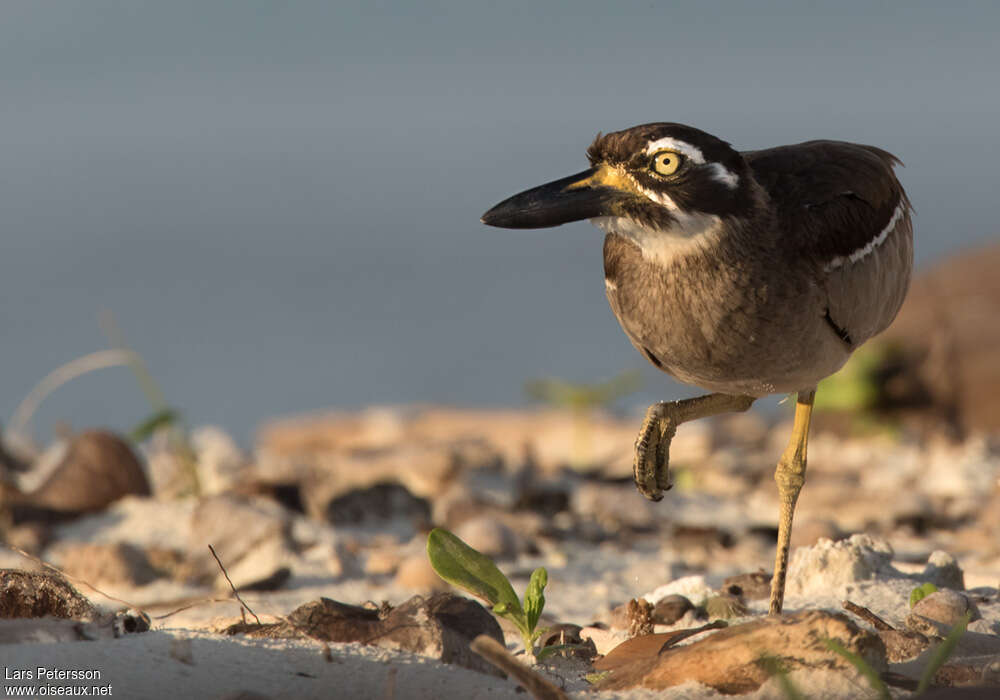
[[[90,601],[62,576],[0,569],[0,619],[51,616],[90,620],[96,615]]]

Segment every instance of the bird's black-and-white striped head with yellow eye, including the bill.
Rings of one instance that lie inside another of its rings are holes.
[[[483,223],[546,228],[626,220],[647,232],[692,235],[752,206],[743,156],[690,126],[661,122],[599,134],[587,157],[587,170],[500,202]]]

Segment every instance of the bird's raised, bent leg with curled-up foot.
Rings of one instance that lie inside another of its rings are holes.
[[[753,402],[752,396],[706,394],[650,406],[635,439],[632,473],[639,493],[651,501],[659,501],[670,488],[670,441],[678,425],[720,413],[745,411]]]

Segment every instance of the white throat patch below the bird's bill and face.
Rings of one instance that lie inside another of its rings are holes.
[[[590,220],[605,233],[616,233],[634,241],[642,257],[664,267],[714,243],[722,220],[714,214],[686,214],[675,211],[677,223],[661,231],[622,216],[600,216]]]

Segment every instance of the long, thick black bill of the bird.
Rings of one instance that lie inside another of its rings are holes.
[[[596,172],[591,168],[516,194],[483,214],[482,222],[500,228],[548,228],[604,216],[609,213],[608,204],[621,193],[587,184]]]

